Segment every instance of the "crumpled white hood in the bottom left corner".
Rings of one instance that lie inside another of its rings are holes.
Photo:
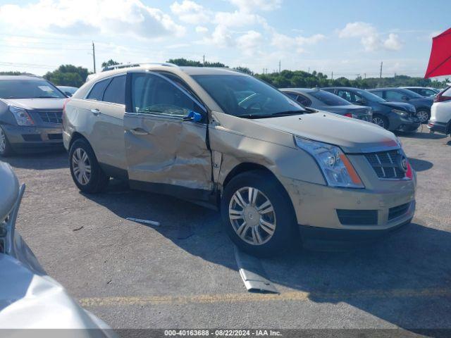
[[[108,325],[70,298],[56,280],[33,273],[3,253],[0,280],[0,329],[96,329],[77,334],[116,337]]]

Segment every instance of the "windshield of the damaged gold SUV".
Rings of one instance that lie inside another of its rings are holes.
[[[247,75],[193,75],[204,90],[229,115],[268,117],[304,113],[297,102],[268,84]]]

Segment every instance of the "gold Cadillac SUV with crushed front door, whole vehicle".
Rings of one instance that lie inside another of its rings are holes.
[[[63,141],[82,192],[116,177],[213,206],[255,255],[278,253],[298,229],[305,245],[363,242],[414,215],[415,174],[393,133],[233,70],[99,73],[66,102]]]

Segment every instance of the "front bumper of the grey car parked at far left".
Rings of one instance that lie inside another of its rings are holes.
[[[20,126],[3,125],[11,147],[19,152],[45,151],[63,145],[61,125]]]

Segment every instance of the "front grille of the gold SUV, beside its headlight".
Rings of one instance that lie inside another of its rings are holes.
[[[365,157],[379,178],[401,179],[405,173],[397,163],[399,155],[399,150],[390,150],[365,154]]]

